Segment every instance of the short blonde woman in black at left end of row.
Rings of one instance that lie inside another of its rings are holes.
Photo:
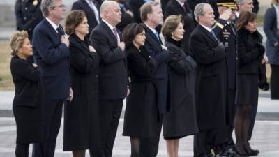
[[[26,31],[14,33],[10,47],[13,50],[10,71],[15,84],[13,114],[17,125],[15,156],[28,157],[29,144],[43,142],[42,70],[27,61],[32,45]]]

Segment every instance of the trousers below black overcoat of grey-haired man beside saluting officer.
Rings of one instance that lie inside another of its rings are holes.
[[[194,135],[194,157],[203,157],[211,152],[214,146],[213,141],[216,137],[216,128],[208,130],[199,130]]]

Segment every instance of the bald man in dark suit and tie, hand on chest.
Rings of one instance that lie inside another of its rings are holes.
[[[99,99],[100,132],[105,157],[112,156],[114,139],[127,96],[128,74],[125,44],[116,25],[121,22],[121,8],[116,1],[100,6],[102,20],[91,32],[90,40],[100,55]]]

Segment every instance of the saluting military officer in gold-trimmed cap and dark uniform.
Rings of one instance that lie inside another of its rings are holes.
[[[216,129],[214,154],[216,156],[235,156],[234,140],[232,131],[234,130],[234,111],[236,96],[236,61],[237,61],[237,38],[236,29],[232,20],[235,18],[235,0],[217,0],[220,18],[213,26],[213,31],[220,38],[220,42],[225,45],[227,63],[227,126]]]

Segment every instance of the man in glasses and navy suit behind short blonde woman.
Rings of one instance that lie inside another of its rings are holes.
[[[65,8],[62,0],[44,0],[41,9],[45,19],[33,31],[34,59],[43,68],[45,88],[44,141],[34,144],[33,157],[54,156],[63,102],[73,98],[68,71],[69,41],[59,24],[65,17]]]

